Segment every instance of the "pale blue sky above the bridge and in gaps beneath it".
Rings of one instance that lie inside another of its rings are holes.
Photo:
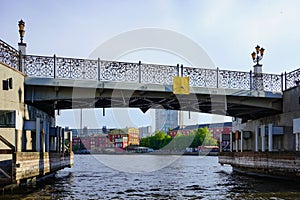
[[[17,23],[23,19],[27,54],[89,58],[99,46],[120,34],[156,28],[195,42],[213,61],[214,66],[207,67],[250,71],[253,66],[250,54],[256,45],[266,49],[261,62],[265,73],[280,74],[300,66],[300,1],[297,0],[1,0],[0,5],[0,39],[17,48]],[[118,60],[189,64],[178,55],[157,49],[150,53],[149,50],[127,52]],[[141,118],[136,125],[153,125],[153,116],[142,116],[138,110],[130,112]],[[62,112],[58,123],[77,126],[78,113]],[[84,124],[89,127],[115,126],[109,117],[119,115],[110,110],[105,118],[101,110],[83,113],[95,115],[97,123],[85,118]],[[207,116],[195,114],[192,118],[193,122],[199,122]],[[120,126],[124,123],[120,122]]]

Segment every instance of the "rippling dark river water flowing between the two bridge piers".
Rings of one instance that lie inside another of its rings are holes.
[[[300,183],[232,172],[217,157],[75,155],[73,168],[0,199],[300,199]]]

